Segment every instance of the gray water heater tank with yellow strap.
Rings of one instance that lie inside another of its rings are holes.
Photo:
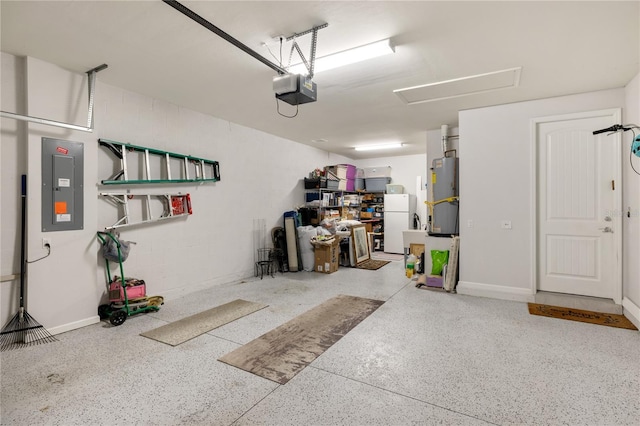
[[[458,159],[455,157],[436,158],[432,162],[431,185],[433,189],[433,217],[429,235],[458,235],[458,200],[444,201],[458,196]]]

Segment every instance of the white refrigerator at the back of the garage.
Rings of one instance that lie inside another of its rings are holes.
[[[416,196],[413,194],[385,194],[384,196],[384,251],[404,253],[402,231],[413,229]]]

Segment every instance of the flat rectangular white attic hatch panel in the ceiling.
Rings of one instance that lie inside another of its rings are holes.
[[[522,67],[476,74],[453,80],[394,90],[409,105],[459,98],[461,96],[510,89],[520,85]]]

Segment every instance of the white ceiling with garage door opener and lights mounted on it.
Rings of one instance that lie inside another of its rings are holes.
[[[318,56],[384,38],[396,53],[316,74],[317,102],[284,118],[275,71],[161,1],[2,0],[2,51],[79,73],[106,63],[108,84],[353,159],[424,153],[426,132],[456,126],[459,110],[623,87],[640,69],[638,1],[182,4],[272,61],[263,42],[323,23]],[[418,105],[393,93],[514,67],[517,88]],[[391,141],[407,145],[353,149]]]

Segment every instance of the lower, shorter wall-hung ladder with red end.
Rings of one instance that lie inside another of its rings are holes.
[[[159,222],[161,220],[189,216],[192,213],[191,197],[189,194],[130,194],[101,192],[100,195],[120,207],[122,211],[122,217],[113,225],[107,226],[105,228],[106,230]],[[141,201],[141,206],[138,209],[135,209],[135,213],[137,213],[135,215],[136,217],[133,217],[134,212],[132,210],[134,209],[129,206],[129,202],[132,200]],[[154,203],[157,204],[157,206],[152,206]],[[156,214],[154,215],[154,213]]]

